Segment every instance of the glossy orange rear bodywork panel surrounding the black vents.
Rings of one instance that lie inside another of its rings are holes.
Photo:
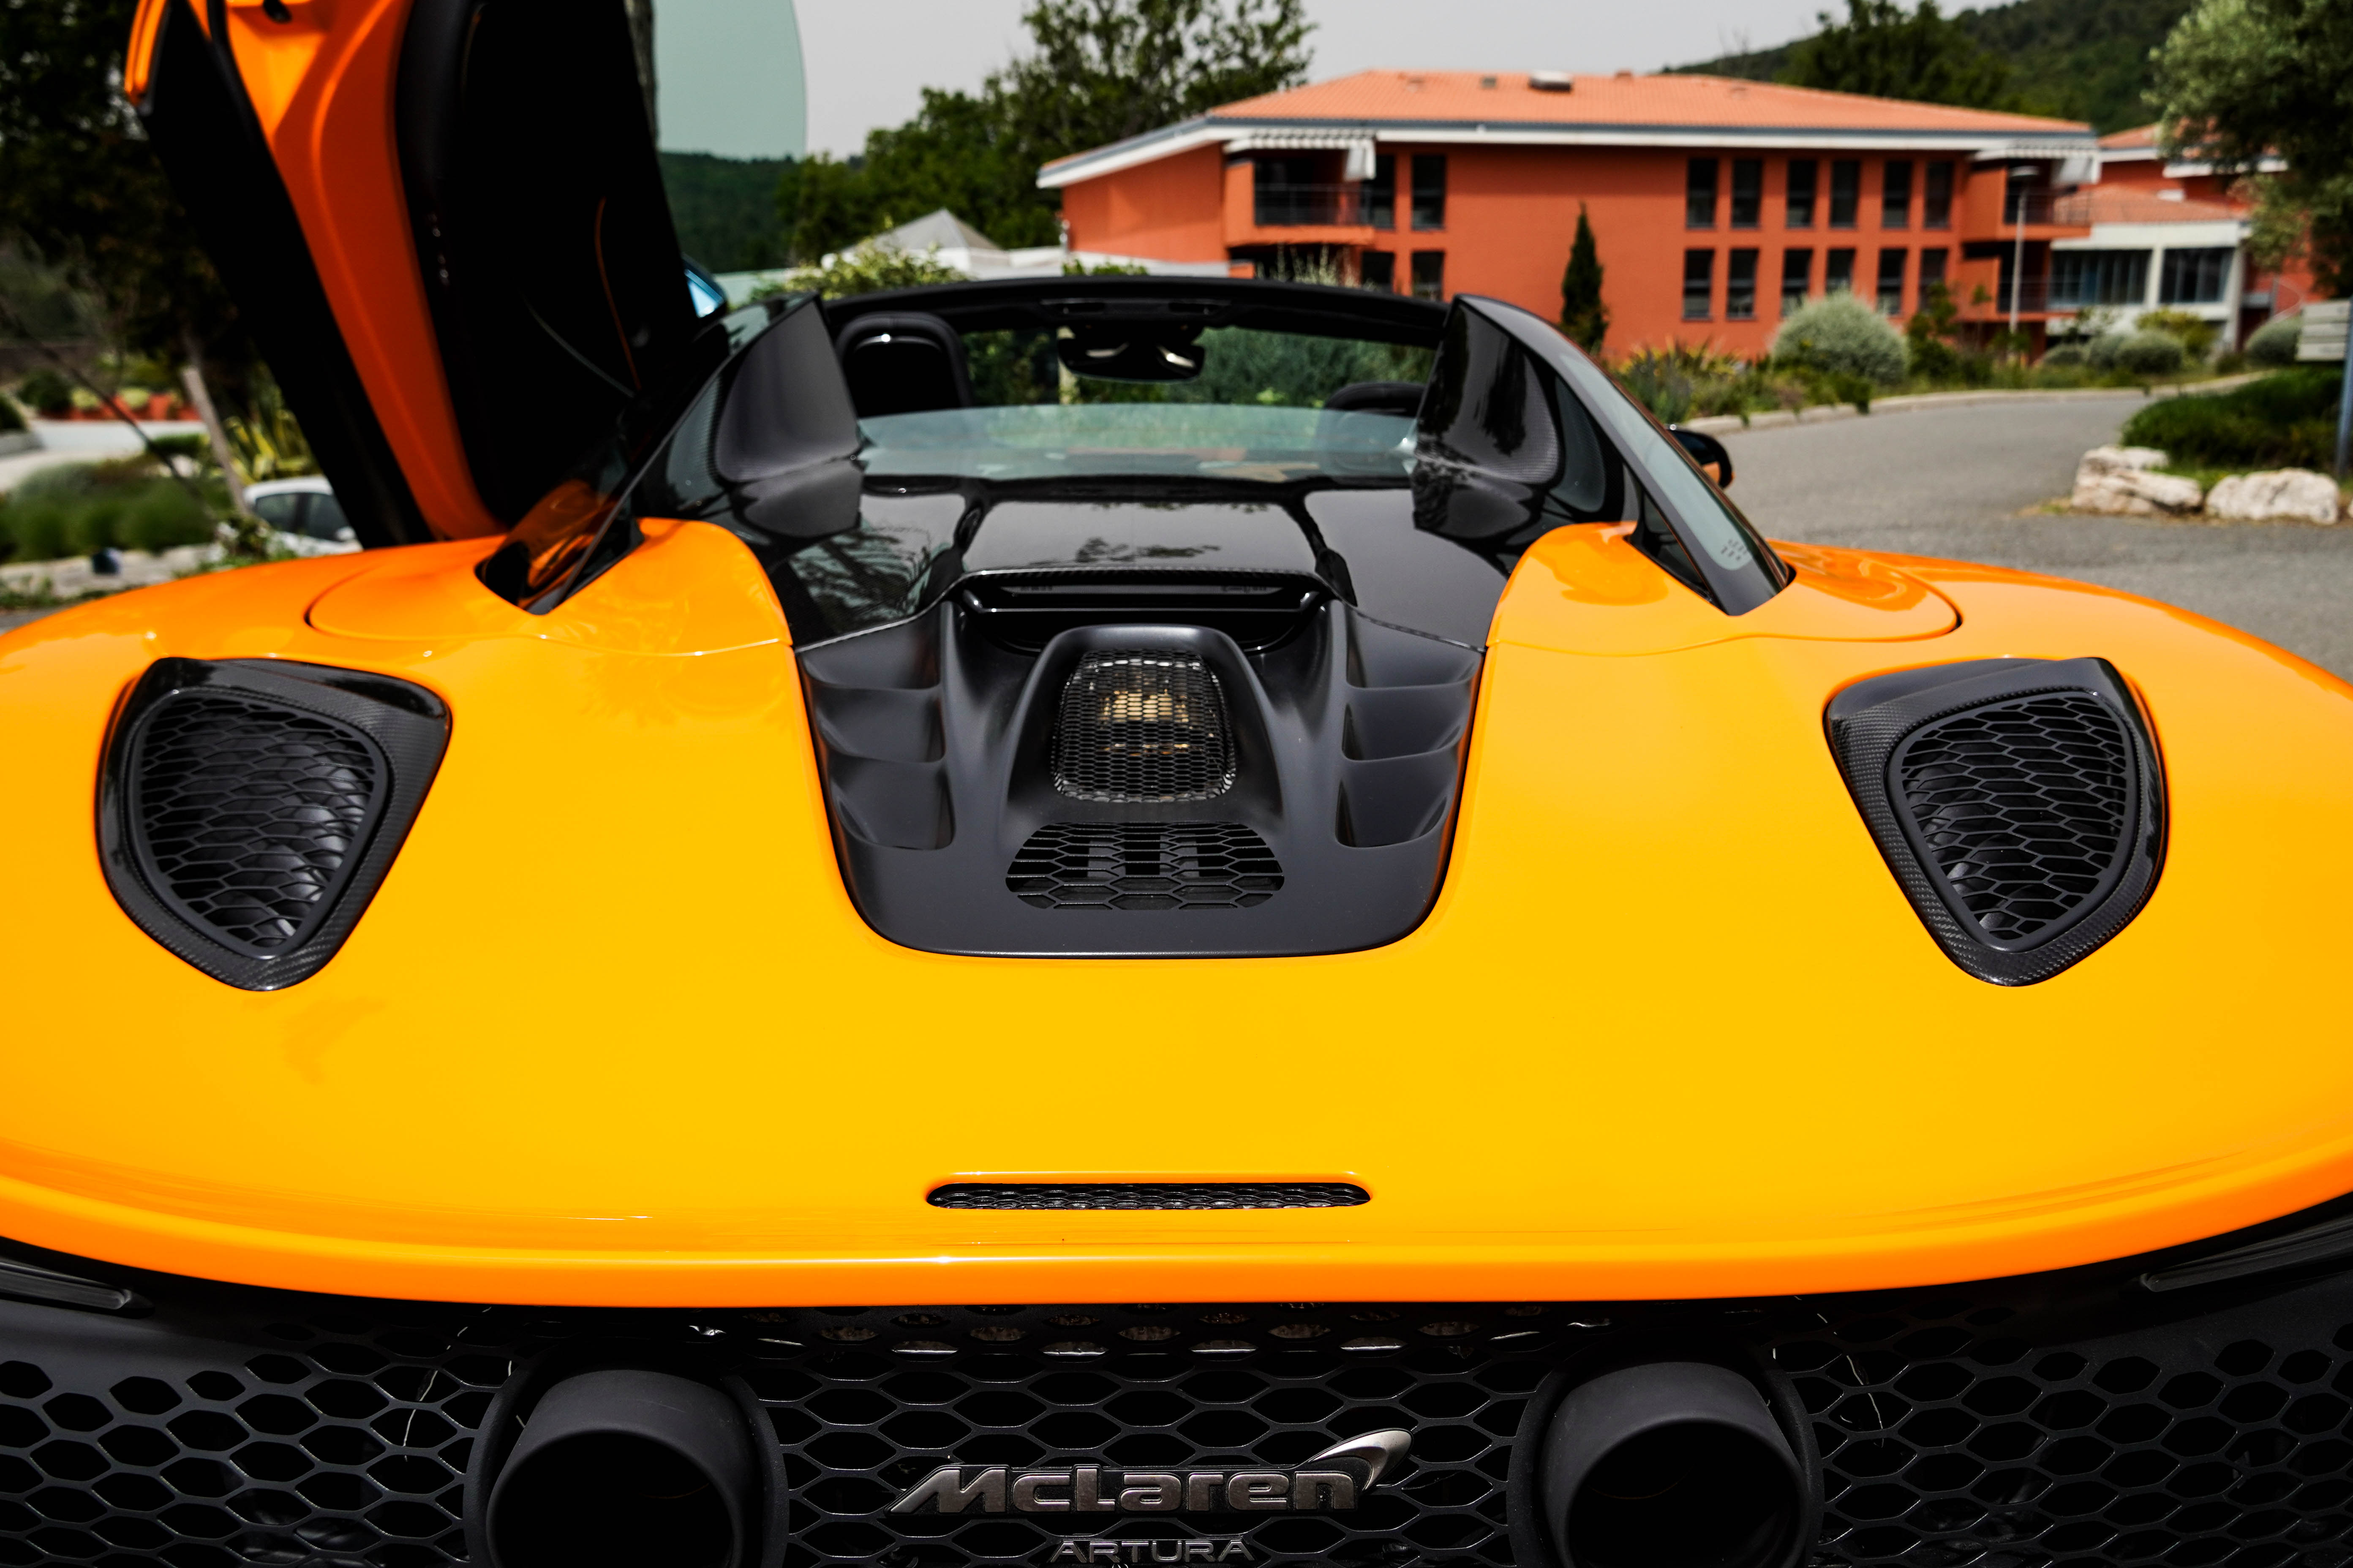
[[[9,1013],[0,1234],[449,1300],[1607,1300],[2047,1269],[2353,1190],[2353,689],[2184,611],[1791,550],[1779,628],[1694,639],[1654,567],[1569,531],[1497,614],[1452,865],[1409,938],[965,959],[859,919],[758,567],[718,529],[659,534],[544,618],[459,543],[0,639],[7,755],[38,759],[0,771],[0,820],[12,879],[45,889],[0,900],[0,950],[40,976]],[[381,670],[452,705],[384,889],[285,992],[181,964],[99,875],[108,712],[165,654]],[[1934,947],[1821,733],[1849,682],[1995,654],[2111,658],[2172,788],[2148,907],[2024,990]],[[1040,1044],[1040,1018],[1176,1011],[1233,1027]],[[1007,1173],[1374,1201],[922,1201]]]

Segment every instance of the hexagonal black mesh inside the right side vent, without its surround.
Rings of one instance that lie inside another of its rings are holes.
[[[2132,750],[2089,693],[1993,703],[1925,724],[1894,755],[1929,863],[1995,943],[2078,912],[2125,856]]]

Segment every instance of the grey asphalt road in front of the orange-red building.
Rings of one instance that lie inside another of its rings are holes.
[[[1774,538],[1941,555],[2195,609],[2353,679],[2353,524],[2019,515],[2066,496],[2132,393],[1744,430],[1732,496]]]

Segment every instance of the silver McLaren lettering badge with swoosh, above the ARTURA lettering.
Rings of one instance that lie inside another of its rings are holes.
[[[1289,1469],[1016,1469],[941,1465],[892,1514],[1322,1514],[1348,1512],[1405,1460],[1409,1432],[1367,1432]],[[1101,1561],[1111,1561],[1108,1556]]]

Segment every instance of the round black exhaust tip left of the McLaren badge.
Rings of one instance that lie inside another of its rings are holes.
[[[492,1568],[746,1568],[760,1465],[744,1410],[668,1373],[565,1378],[489,1490]]]

